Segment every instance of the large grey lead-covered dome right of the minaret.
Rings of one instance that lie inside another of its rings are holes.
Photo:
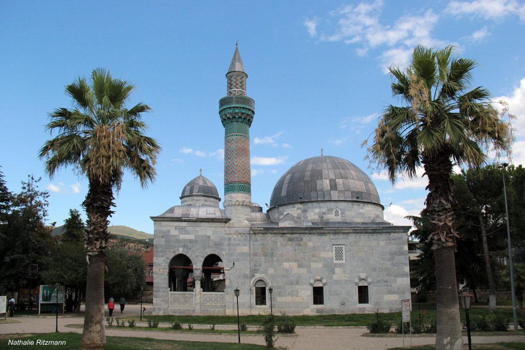
[[[380,204],[372,180],[358,166],[333,156],[293,165],[274,187],[270,207],[317,200],[352,200]]]

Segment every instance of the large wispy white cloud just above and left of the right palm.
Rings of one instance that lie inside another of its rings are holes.
[[[432,36],[431,31],[439,20],[432,9],[421,15],[402,16],[390,24],[380,22],[384,2],[361,2],[348,5],[330,13],[336,19],[335,27],[320,34],[320,40],[343,41],[348,45],[359,45],[356,54],[365,56],[370,49],[380,48],[380,67],[387,72],[392,65],[406,67],[412,51],[418,44],[441,47],[446,43]],[[333,23],[333,21],[326,21]]]

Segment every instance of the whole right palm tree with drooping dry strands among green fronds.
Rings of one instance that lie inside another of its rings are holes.
[[[454,164],[479,166],[493,147],[507,151],[510,124],[492,107],[489,91],[469,90],[475,61],[451,57],[453,46],[436,51],[417,46],[406,71],[391,67],[392,92],[405,105],[388,105],[369,147],[371,160],[387,169],[392,182],[414,177],[423,166],[428,176],[425,214],[433,230],[429,243],[436,269],[436,349],[460,349],[461,327],[454,251]]]

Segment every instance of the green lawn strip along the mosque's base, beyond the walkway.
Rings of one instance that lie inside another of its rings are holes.
[[[512,309],[498,308],[498,313],[502,313],[512,320]],[[473,306],[470,309],[470,317],[478,315],[487,315],[489,310],[487,307],[476,307]],[[383,313],[383,318],[397,325],[401,319],[401,312],[390,312]],[[421,303],[421,316],[427,319],[436,318],[436,303]],[[259,325],[264,318],[264,315],[248,315],[241,316],[240,322],[246,323],[247,325]],[[298,326],[366,326],[369,322],[375,319],[373,313],[368,314],[333,314],[333,315],[300,315],[300,316],[289,316],[290,319],[295,321]],[[417,303],[412,304],[412,320],[416,321],[419,317]],[[465,312],[460,312],[461,322],[465,321]],[[134,317],[138,319],[138,317]],[[144,317],[143,317],[144,318]],[[120,319],[120,318],[119,318]],[[129,317],[128,317],[129,319]],[[127,318],[122,320],[127,321]],[[146,320],[158,321],[170,323],[178,321],[183,324],[237,324],[236,316],[193,316],[193,315],[149,315],[146,316]]]

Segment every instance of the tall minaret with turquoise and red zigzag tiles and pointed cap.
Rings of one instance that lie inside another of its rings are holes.
[[[251,212],[250,125],[255,102],[246,96],[243,60],[235,43],[227,79],[227,96],[219,100],[224,126],[224,209],[232,221],[246,220]]]

